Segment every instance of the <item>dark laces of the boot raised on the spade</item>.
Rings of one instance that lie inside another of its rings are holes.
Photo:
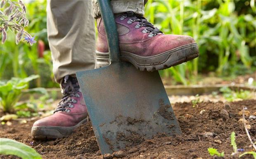
[[[154,27],[154,25],[152,23],[150,23],[149,21],[147,21],[146,18],[144,18],[143,16],[139,16],[139,15],[135,15],[133,12],[126,12],[126,14],[123,14],[121,16],[121,20],[127,18],[127,17],[131,17],[128,20],[128,24],[133,23],[133,22],[139,22],[137,25],[135,25],[135,28],[140,28],[140,27],[145,27],[145,29],[142,31],[143,33],[149,33],[148,35],[149,37],[153,37],[156,34],[161,34],[163,33],[161,30],[159,30],[157,27]]]

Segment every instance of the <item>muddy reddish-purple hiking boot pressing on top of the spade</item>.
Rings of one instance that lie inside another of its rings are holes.
[[[142,16],[126,12],[115,16],[120,59],[141,71],[155,71],[187,62],[199,55],[197,43],[186,35],[164,35]],[[109,48],[103,21],[97,18],[97,53]]]

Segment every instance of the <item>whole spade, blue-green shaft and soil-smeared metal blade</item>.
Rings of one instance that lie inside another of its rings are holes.
[[[98,0],[111,64],[76,73],[102,154],[144,139],[180,134],[158,71],[139,71],[119,61],[118,34],[109,0]]]

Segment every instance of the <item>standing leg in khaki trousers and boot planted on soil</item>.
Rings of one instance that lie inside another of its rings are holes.
[[[87,121],[88,112],[75,73],[95,67],[95,20],[90,0],[47,1],[47,34],[52,51],[53,72],[64,97],[53,115],[37,120],[34,139],[70,135]]]

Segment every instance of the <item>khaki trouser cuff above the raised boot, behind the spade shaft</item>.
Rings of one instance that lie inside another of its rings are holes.
[[[147,0],[111,0],[114,14],[133,11],[135,14],[144,15],[144,5]],[[100,16],[100,9],[96,0],[93,0],[94,18]]]

